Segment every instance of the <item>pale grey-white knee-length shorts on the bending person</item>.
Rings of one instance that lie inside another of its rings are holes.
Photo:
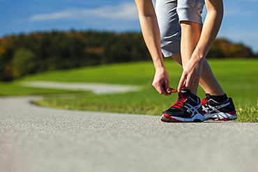
[[[204,3],[204,0],[156,0],[155,12],[165,57],[180,52],[181,21],[202,24]]]

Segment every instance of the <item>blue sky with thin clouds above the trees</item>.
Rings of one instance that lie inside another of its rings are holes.
[[[258,0],[225,0],[224,5],[218,37],[258,52]],[[0,0],[0,37],[53,29],[140,31],[133,0]]]

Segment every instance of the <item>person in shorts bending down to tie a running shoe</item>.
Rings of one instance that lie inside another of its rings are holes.
[[[171,95],[169,74],[162,54],[172,56],[183,67],[178,101],[162,112],[163,122],[202,122],[207,119],[234,120],[236,111],[215,79],[205,57],[220,29],[222,0],[135,0],[146,46],[155,67],[153,86],[158,93]],[[202,9],[207,15],[202,24]],[[197,97],[198,84],[206,92]]]

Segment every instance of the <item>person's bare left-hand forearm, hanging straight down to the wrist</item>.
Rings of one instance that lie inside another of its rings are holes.
[[[149,49],[155,69],[165,68],[160,48],[160,29],[152,1],[135,0],[144,41]]]

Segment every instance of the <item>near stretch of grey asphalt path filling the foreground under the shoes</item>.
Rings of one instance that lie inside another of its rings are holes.
[[[258,171],[258,124],[36,107],[0,98],[1,172]]]

